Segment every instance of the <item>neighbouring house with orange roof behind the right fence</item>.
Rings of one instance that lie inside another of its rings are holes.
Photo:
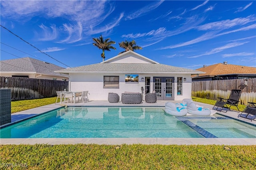
[[[192,75],[192,81],[256,78],[256,67],[228,64],[227,61],[196,69],[205,73]]]

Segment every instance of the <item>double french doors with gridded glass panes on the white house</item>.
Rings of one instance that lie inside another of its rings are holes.
[[[153,77],[158,100],[174,100],[174,77]]]

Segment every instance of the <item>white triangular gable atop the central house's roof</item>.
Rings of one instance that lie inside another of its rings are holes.
[[[135,53],[134,51],[126,51],[122,54],[119,54],[115,57],[112,57],[106,61],[103,61],[101,63],[154,63],[159,64],[156,61],[153,61],[152,59],[149,59],[147,57],[144,57],[143,55],[140,55],[138,53]]]

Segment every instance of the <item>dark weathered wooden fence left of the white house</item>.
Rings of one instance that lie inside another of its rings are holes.
[[[56,96],[56,91],[68,89],[68,81],[0,77],[0,88],[11,89],[12,101]]]

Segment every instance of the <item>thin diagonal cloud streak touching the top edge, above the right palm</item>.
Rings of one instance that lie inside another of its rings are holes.
[[[150,1],[149,1],[150,2]],[[132,14],[128,15],[125,20],[132,20],[134,18],[138,18],[142,15],[144,15],[147,12],[150,12],[154,9],[156,9],[159,5],[161,5],[164,2],[164,0],[156,1],[154,4],[147,5],[140,10],[137,10],[136,12],[132,12]]]

